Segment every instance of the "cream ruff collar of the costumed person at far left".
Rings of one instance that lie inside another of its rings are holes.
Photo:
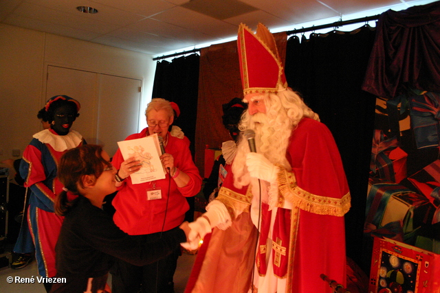
[[[57,135],[45,129],[34,134],[34,138],[52,146],[57,152],[64,152],[65,150],[76,148],[83,140],[83,136],[75,130],[70,130],[66,135]]]

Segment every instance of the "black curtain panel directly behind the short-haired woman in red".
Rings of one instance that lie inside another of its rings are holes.
[[[190,140],[192,159],[195,156],[199,60],[199,55],[192,54],[175,58],[172,62],[157,62],[152,96],[162,97],[179,106],[180,116],[174,124],[179,126]]]

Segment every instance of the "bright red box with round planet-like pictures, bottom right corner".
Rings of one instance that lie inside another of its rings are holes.
[[[392,239],[375,237],[370,293],[440,292],[440,255]]]

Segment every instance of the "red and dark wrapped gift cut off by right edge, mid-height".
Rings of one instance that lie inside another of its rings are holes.
[[[432,204],[439,206],[440,188],[437,187],[440,187],[440,159],[402,180],[401,184],[423,194]]]

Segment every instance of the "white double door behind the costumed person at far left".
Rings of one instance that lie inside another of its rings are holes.
[[[72,129],[113,156],[117,142],[137,132],[142,81],[64,67],[47,67],[46,99],[68,95],[81,104]]]

